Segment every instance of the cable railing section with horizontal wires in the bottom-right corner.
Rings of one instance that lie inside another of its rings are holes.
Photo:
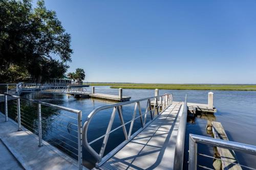
[[[227,160],[219,159],[217,157],[212,157],[212,156],[209,156],[206,154],[198,153],[198,143],[210,145],[212,147],[219,147],[219,148],[224,148],[224,149],[228,149],[228,150],[233,150],[233,151],[237,151],[240,153],[256,155],[256,146],[254,146],[254,145],[189,134],[189,159],[188,159],[189,160],[188,161],[188,163],[189,163],[188,169],[189,170],[196,170],[198,167],[200,167],[200,169],[201,168],[214,169],[211,167],[207,167],[206,165],[198,164],[198,159],[197,159],[198,155],[206,157],[206,158],[211,158],[213,160],[227,162],[229,164],[229,167],[238,165],[240,167],[243,167],[243,169],[254,169],[255,170],[255,168],[249,167],[246,165],[242,165],[242,164],[238,163],[237,161],[227,161]],[[229,167],[222,167],[222,169],[229,169]]]

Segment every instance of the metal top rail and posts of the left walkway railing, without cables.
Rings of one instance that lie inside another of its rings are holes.
[[[8,96],[11,96],[12,98],[17,99],[17,122],[18,122],[18,131],[22,130],[22,118],[21,116],[21,109],[20,109],[20,99],[25,100],[25,101],[30,101],[32,103],[37,104],[37,116],[38,116],[38,139],[39,139],[39,144],[38,146],[41,147],[42,145],[42,124],[41,124],[41,105],[44,106],[48,106],[48,107],[53,107],[53,108],[57,108],[59,110],[64,110],[64,111],[68,111],[68,112],[72,112],[72,113],[76,113],[77,114],[77,145],[78,145],[78,149],[77,149],[77,156],[78,156],[78,169],[82,169],[82,111],[77,110],[77,109],[71,109],[71,108],[67,108],[64,106],[58,106],[58,105],[54,105],[54,104],[50,104],[50,103],[46,103],[46,102],[40,102],[37,100],[33,100],[33,99],[27,99],[27,98],[23,98],[17,95],[12,95],[12,94],[0,94],[0,95],[4,95],[5,97],[5,120],[8,121]],[[44,114],[44,113],[43,113]]]

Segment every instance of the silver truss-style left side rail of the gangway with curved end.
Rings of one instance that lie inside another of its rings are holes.
[[[160,101],[158,101],[159,98],[160,98]],[[151,99],[154,99],[154,101],[155,101],[153,109],[151,107]],[[142,102],[142,101],[147,101],[146,111],[143,114],[141,113],[141,107],[140,107],[140,102]],[[164,94],[164,95],[153,96],[153,97],[150,97],[150,98],[144,98],[144,99],[139,99],[139,100],[134,100],[134,101],[127,101],[127,102],[121,102],[121,103],[116,103],[116,104],[112,104],[112,105],[100,106],[100,107],[97,107],[96,109],[94,109],[88,115],[86,122],[84,122],[84,124],[83,124],[83,128],[82,128],[82,138],[83,138],[83,140],[82,140],[82,143],[83,143],[83,146],[90,152],[90,154],[97,160],[96,166],[100,166],[102,163],[104,163],[106,160],[108,160],[111,156],[113,156],[116,152],[118,152],[127,142],[132,140],[140,131],[142,131],[158,115],[160,115],[168,106],[170,106],[172,104],[172,101],[173,101],[173,95],[172,94]],[[159,104],[158,104],[158,102],[159,102]],[[135,104],[133,118],[129,122],[124,123],[121,107],[124,106],[124,105],[133,104],[133,103]],[[161,112],[160,112],[160,107],[162,107]],[[87,138],[87,135],[88,135],[87,132],[88,132],[88,127],[90,125],[90,122],[91,122],[92,118],[99,111],[109,109],[109,108],[113,108],[113,112],[111,114],[110,122],[109,122],[108,128],[106,130],[106,133],[89,143],[88,138]],[[139,114],[140,115],[135,117],[136,113],[137,113],[137,108],[139,108]],[[121,126],[115,128],[114,130],[111,131],[116,111],[118,111]],[[157,111],[157,116],[153,117],[155,115],[155,111]],[[151,121],[148,122],[147,124],[145,124],[146,114],[149,113],[149,112],[151,113]],[[153,113],[153,116],[152,116],[152,113]],[[144,117],[142,118],[142,116],[144,116]],[[142,128],[140,128],[138,131],[136,131],[134,134],[132,134],[134,120],[137,119],[137,118],[140,118]],[[127,134],[125,125],[127,125],[129,123],[131,123],[131,126],[130,126],[130,129],[129,129],[129,134]],[[110,133],[116,131],[119,128],[123,129],[123,133],[124,133],[124,136],[125,136],[125,141],[123,141],[114,150],[112,150],[109,154],[107,154],[103,157],[105,146],[106,146],[106,143],[108,142],[108,138],[109,138]],[[104,137],[104,139],[103,139],[102,147],[101,147],[100,153],[98,154],[91,147],[90,144],[92,144],[93,142],[95,142],[95,141],[97,141],[97,140],[99,140],[103,137]]]

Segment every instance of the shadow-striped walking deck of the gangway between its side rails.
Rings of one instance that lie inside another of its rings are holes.
[[[99,169],[173,169],[182,103],[170,105]]]

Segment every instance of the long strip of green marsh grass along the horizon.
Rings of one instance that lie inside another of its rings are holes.
[[[166,90],[237,90],[256,91],[256,85],[248,84],[144,84],[144,83],[90,83],[91,86],[111,86],[126,89],[166,89]]]

